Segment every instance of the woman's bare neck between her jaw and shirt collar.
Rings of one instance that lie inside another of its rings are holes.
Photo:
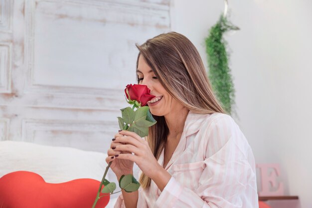
[[[164,116],[169,129],[168,137],[179,139],[184,128],[184,123],[188,114],[185,107],[171,109],[171,112]]]

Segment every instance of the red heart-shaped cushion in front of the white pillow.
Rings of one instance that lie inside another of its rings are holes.
[[[49,184],[32,172],[12,172],[0,178],[0,208],[92,208],[99,186],[93,179]],[[109,200],[101,198],[96,208]]]

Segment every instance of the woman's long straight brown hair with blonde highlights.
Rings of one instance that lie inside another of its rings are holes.
[[[200,55],[187,37],[168,32],[136,46],[140,51],[137,69],[142,55],[163,88],[188,110],[199,114],[225,113],[212,92]],[[153,117],[157,123],[149,128],[147,141],[158,160],[169,130],[163,116]],[[151,179],[144,173],[139,181],[144,189],[151,185]]]

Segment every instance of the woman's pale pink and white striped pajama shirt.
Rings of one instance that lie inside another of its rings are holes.
[[[165,170],[168,184],[162,192],[153,181],[140,188],[138,208],[259,208],[252,150],[226,114],[189,111]],[[125,208],[122,194],[114,208]]]

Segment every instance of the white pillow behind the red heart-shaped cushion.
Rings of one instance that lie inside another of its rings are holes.
[[[69,147],[0,141],[0,178],[14,171],[30,171],[47,183],[83,178],[101,181],[107,166],[106,157],[104,153]]]

